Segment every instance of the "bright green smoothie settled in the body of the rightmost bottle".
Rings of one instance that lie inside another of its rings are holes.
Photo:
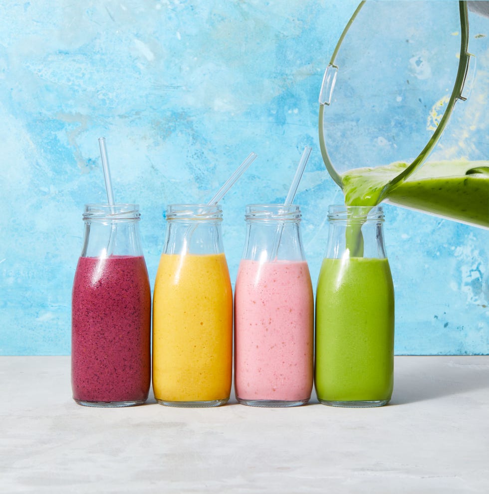
[[[394,287],[386,258],[323,260],[316,295],[315,362],[320,402],[374,406],[390,400]]]

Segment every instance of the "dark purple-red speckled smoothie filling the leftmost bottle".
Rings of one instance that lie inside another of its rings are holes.
[[[71,324],[73,398],[144,402],[151,378],[151,292],[144,258],[80,257]]]

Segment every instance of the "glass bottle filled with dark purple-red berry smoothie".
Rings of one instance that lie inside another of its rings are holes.
[[[141,405],[151,379],[151,291],[136,204],[87,204],[71,311],[73,399]]]

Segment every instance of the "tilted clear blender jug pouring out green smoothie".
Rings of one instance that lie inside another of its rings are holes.
[[[471,11],[471,37],[472,3],[489,2],[358,5],[319,96],[321,153],[346,204],[489,228],[489,20]]]

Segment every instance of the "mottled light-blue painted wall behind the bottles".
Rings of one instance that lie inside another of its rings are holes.
[[[106,200],[99,136],[116,201],[140,204],[152,285],[166,204],[207,202],[250,151],[258,154],[222,202],[235,279],[245,204],[283,201],[312,146],[295,202],[315,281],[327,206],[342,202],[318,149],[317,98],[356,5],[3,1],[0,354],[70,352],[83,205]],[[487,69],[481,77],[488,81]],[[393,206],[386,216],[396,353],[489,353],[489,232]]]

